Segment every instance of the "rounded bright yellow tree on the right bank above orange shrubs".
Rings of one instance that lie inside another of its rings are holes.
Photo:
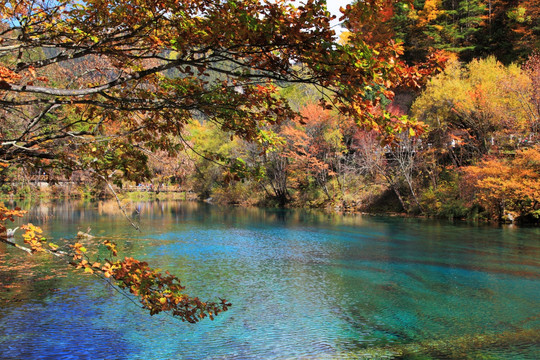
[[[470,158],[533,130],[532,95],[531,79],[517,66],[505,67],[493,57],[467,67],[454,62],[430,81],[412,112],[431,126],[437,137],[432,141],[457,143]]]

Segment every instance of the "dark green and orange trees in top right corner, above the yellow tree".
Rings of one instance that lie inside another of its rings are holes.
[[[538,49],[538,11],[529,0],[416,0],[397,4],[392,21],[409,62],[435,48],[465,62],[493,55],[510,64]]]

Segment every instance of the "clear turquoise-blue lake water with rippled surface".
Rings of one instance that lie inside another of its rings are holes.
[[[95,277],[0,245],[0,358],[540,358],[539,228],[136,206],[141,233],[113,203],[30,217],[55,239],[91,227],[233,307],[196,325],[150,317]]]

